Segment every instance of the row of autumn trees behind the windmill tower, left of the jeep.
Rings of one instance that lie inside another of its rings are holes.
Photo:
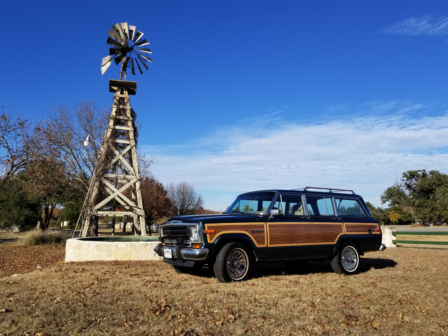
[[[22,229],[48,228],[55,215],[74,225],[89,189],[101,146],[86,149],[87,135],[102,142],[110,108],[86,100],[51,106],[46,117],[28,121],[0,115],[0,223]],[[152,159],[138,155],[146,224],[174,215],[204,212],[202,196],[188,182],[166,188],[152,175]]]

